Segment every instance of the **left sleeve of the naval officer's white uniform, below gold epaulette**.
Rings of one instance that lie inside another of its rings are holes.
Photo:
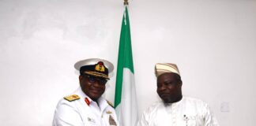
[[[55,109],[53,126],[84,126],[81,116],[71,102],[61,100]]]

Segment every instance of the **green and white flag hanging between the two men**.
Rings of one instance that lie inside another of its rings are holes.
[[[134,126],[137,123],[136,99],[130,23],[126,6],[122,17],[119,59],[115,83],[115,111],[120,125]]]

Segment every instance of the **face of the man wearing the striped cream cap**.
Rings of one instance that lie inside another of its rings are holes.
[[[157,94],[165,103],[178,102],[182,96],[182,82],[175,73],[164,73],[157,77]]]

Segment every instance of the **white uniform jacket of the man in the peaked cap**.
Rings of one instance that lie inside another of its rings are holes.
[[[100,97],[97,103],[88,98],[81,90],[81,87],[73,93],[78,95],[80,99],[67,101],[62,98],[55,109],[55,117],[53,126],[113,126],[113,121],[119,126],[115,109],[110,106],[107,101]],[[85,102],[88,98],[89,105]]]

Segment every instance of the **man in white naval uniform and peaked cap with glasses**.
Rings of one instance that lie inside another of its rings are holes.
[[[53,126],[119,126],[115,109],[101,97],[113,71],[111,62],[103,59],[78,61],[80,87],[62,98],[55,109]]]

